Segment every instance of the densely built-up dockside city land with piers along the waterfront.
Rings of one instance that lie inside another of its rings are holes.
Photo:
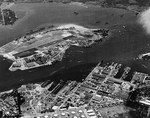
[[[114,118],[131,109],[149,116],[150,76],[133,72],[127,80],[131,68],[119,77],[121,68],[101,61],[82,82],[48,80],[1,92],[2,117]]]

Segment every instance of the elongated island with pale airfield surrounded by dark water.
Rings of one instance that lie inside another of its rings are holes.
[[[10,71],[27,70],[61,61],[72,46],[90,47],[109,34],[108,29],[88,29],[75,24],[40,28],[0,47],[0,55],[12,61]]]

